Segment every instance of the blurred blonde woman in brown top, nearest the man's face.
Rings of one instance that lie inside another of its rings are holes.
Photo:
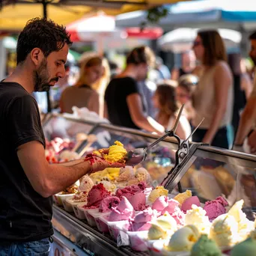
[[[73,113],[72,107],[87,108],[100,113],[100,97],[93,85],[103,76],[103,58],[94,52],[85,52],[80,61],[80,75],[75,85],[61,94],[61,113]]]

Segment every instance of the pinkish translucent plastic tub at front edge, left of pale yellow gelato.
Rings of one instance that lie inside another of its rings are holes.
[[[148,231],[127,231],[129,247],[136,252],[147,252],[146,238]]]

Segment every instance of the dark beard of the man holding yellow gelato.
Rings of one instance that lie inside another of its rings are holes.
[[[49,83],[52,81],[58,82],[58,77],[49,80],[47,61],[44,58],[40,67],[34,71],[34,91],[49,91],[51,86]]]

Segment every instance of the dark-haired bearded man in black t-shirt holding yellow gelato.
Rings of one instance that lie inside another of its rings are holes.
[[[46,161],[46,141],[33,91],[47,91],[64,77],[71,44],[63,26],[28,21],[17,42],[17,66],[0,82],[0,255],[48,255],[52,195],[85,174],[109,166],[88,155],[64,164]]]

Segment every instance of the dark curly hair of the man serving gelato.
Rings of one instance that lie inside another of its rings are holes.
[[[62,49],[65,43],[70,46],[72,41],[63,25],[46,18],[30,19],[19,34],[16,48],[17,64],[25,61],[34,48],[40,48],[47,57],[51,52]]]

